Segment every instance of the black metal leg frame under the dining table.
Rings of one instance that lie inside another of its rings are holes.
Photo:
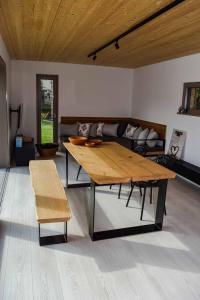
[[[99,185],[99,184],[95,183],[92,179],[88,183],[69,184],[68,183],[69,154],[70,154],[69,151],[66,149],[66,188],[90,187],[90,199],[89,199],[89,205],[88,205],[88,224],[89,224],[89,235],[90,235],[92,241],[98,241],[98,240],[110,239],[110,238],[115,238],[115,237],[122,237],[122,236],[134,235],[134,234],[139,234],[139,233],[147,233],[147,232],[162,230],[168,179],[163,179],[163,180],[159,181],[156,216],[155,216],[154,224],[146,224],[146,225],[133,226],[133,227],[124,227],[124,228],[104,230],[104,231],[94,231],[95,188],[96,188],[96,186],[106,186],[108,184]],[[119,182],[119,184],[120,184],[120,182]]]

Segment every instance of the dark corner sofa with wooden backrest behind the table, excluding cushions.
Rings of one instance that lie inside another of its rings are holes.
[[[156,146],[155,147],[148,147],[146,144],[147,139],[143,140],[144,148],[145,148],[145,156],[157,156],[164,154],[165,152],[165,136],[166,136],[166,125],[158,124],[158,123],[153,123],[153,122],[148,122],[144,120],[139,120],[139,119],[133,119],[133,118],[113,118],[113,117],[68,117],[68,116],[63,116],[61,117],[61,122],[60,122],[60,129],[59,129],[59,138],[60,138],[60,149],[61,151],[64,150],[64,147],[62,146],[63,142],[68,141],[68,137],[70,135],[67,135],[65,133],[65,124],[77,124],[77,123],[104,123],[104,124],[119,124],[118,129],[117,129],[117,136],[108,136],[108,135],[103,135],[102,137],[96,137],[96,138],[101,138],[103,141],[114,141],[122,146],[133,150],[138,146],[138,139],[130,139],[124,137],[124,132],[126,130],[126,127],[128,124],[131,124],[132,126],[135,127],[142,127],[143,129],[148,128],[149,130],[154,129],[159,137],[156,138]],[[75,135],[75,132],[72,132]],[[78,135],[78,131],[77,134]],[[89,138],[92,138],[89,136]],[[94,137],[93,137],[94,138]],[[141,141],[141,140],[140,140]]]

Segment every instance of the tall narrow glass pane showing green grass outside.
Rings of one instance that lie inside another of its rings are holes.
[[[53,80],[41,80],[41,143],[53,143]]]

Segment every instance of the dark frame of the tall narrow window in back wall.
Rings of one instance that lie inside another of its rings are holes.
[[[39,124],[41,120],[41,105],[40,105],[40,80],[49,79],[53,80],[54,84],[54,101],[53,112],[55,117],[53,118],[53,142],[58,142],[58,75],[49,74],[36,74],[36,126],[37,126],[37,143],[41,143],[41,126]]]

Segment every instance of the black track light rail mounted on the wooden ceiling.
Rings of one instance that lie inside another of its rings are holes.
[[[96,50],[92,51],[90,54],[88,54],[88,57],[93,56],[94,59],[96,59],[96,55],[98,52],[104,50],[105,48],[109,47],[112,44],[116,44],[116,42],[118,43],[119,40],[121,40],[122,38],[124,38],[125,36],[127,36],[128,34],[136,31],[137,29],[141,28],[142,26],[146,25],[147,23],[153,21],[155,18],[163,15],[164,13],[168,12],[169,10],[171,10],[172,8],[178,6],[179,4],[181,4],[182,2],[184,2],[185,0],[175,0],[172,3],[166,5],[165,7],[161,8],[160,10],[158,10],[157,12],[155,12],[154,14],[152,14],[151,16],[147,17],[146,19],[142,20],[141,22],[133,25],[131,28],[129,28],[127,31],[121,33],[120,35],[116,36],[114,39],[112,39],[110,42],[107,42],[106,44],[104,44],[103,46],[97,48]],[[117,48],[118,49],[118,48]]]

